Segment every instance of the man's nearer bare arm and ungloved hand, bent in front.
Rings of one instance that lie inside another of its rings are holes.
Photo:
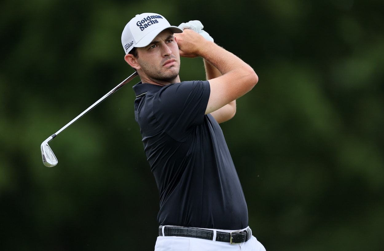
[[[222,76],[209,80],[210,96],[205,114],[214,112],[250,91],[258,76],[247,63],[229,51],[207,41],[192,30],[175,34],[180,56],[201,56],[218,69]]]

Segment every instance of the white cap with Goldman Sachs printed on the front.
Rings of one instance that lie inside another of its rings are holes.
[[[125,54],[133,47],[145,47],[163,30],[169,29],[173,33],[182,33],[177,26],[171,26],[169,22],[156,13],[142,13],[136,15],[127,23],[121,34],[121,44]]]

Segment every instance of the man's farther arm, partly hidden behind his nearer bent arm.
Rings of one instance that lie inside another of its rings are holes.
[[[210,64],[208,61],[204,59],[204,67],[205,67],[205,74],[207,76],[207,80],[218,78],[222,76],[220,71]],[[211,112],[211,115],[216,119],[218,123],[222,123],[225,121],[228,121],[235,116],[236,113],[236,100],[230,102],[229,104],[226,104],[225,106],[217,109],[214,112]]]

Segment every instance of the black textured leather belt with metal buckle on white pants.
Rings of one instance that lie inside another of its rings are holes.
[[[163,236],[162,226],[159,227],[159,236]],[[214,231],[182,226],[164,226],[164,236],[181,236],[213,240]],[[247,228],[244,231],[232,231],[230,233],[216,231],[216,241],[229,242],[230,244],[242,243],[248,241],[251,237],[252,232],[250,228]]]

